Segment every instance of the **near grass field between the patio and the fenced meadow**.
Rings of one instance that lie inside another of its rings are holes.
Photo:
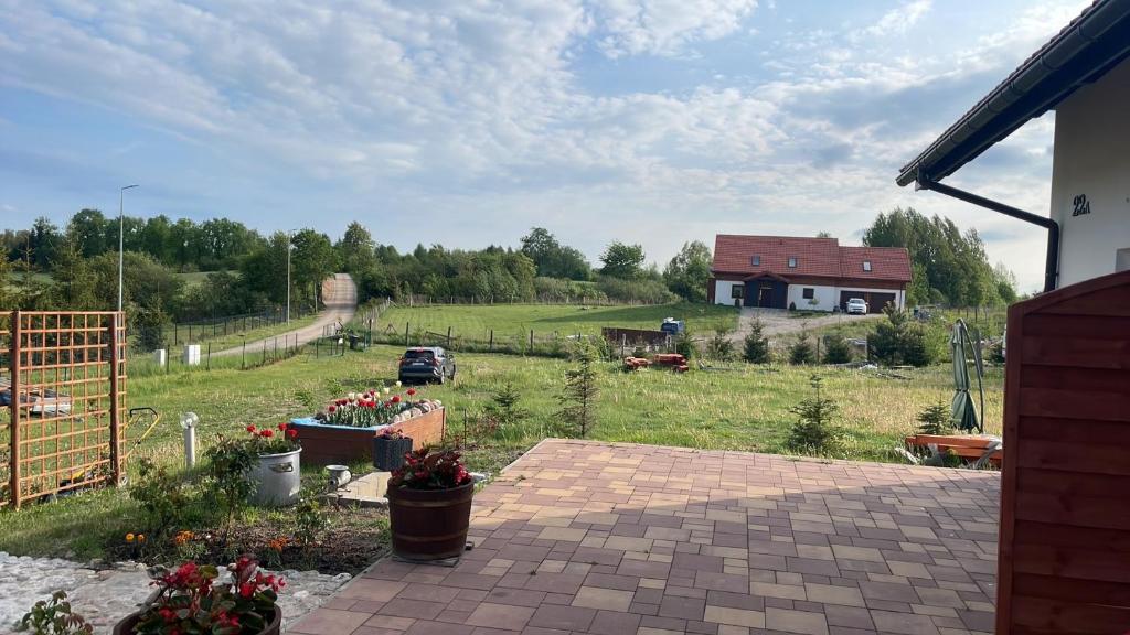
[[[134,453],[169,464],[182,460],[179,416],[200,417],[202,445],[217,434],[240,434],[246,424],[273,424],[310,415],[329,399],[350,390],[391,382],[395,377],[395,347],[376,346],[365,354],[319,358],[299,355],[252,371],[214,369],[174,373],[129,381],[129,406],[151,406],[162,412],[159,429]],[[462,354],[454,384],[432,385],[421,392],[449,407],[449,432],[462,433],[463,423],[490,400],[502,384],[512,383],[523,423],[489,437],[471,438],[471,468],[495,472],[546,436],[559,435],[557,395],[570,363],[519,356]],[[890,449],[915,427],[914,416],[930,403],[953,394],[948,366],[897,375],[822,367],[749,366],[733,364],[721,372],[662,371],[626,374],[612,363],[600,366],[599,423],[589,435],[624,441],[702,449],[785,452],[789,408],[810,394],[808,377],[825,377],[825,394],[842,409],[844,434],[834,456],[896,461]],[[999,433],[1002,372],[991,369],[986,393],[989,430]],[[130,430],[132,437],[140,430]],[[202,450],[202,449],[201,449]],[[356,466],[365,469],[364,466]],[[316,471],[307,470],[316,479]],[[128,530],[137,514],[124,490],[87,493],[59,502],[0,513],[0,551],[16,555],[69,555],[92,558],[115,536]]]

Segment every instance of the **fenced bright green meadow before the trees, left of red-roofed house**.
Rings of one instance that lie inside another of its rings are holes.
[[[394,306],[381,314],[377,329],[390,333],[427,330],[469,340],[536,338],[571,334],[600,334],[603,327],[659,330],[664,318],[686,320],[697,333],[716,328],[734,329],[738,311],[729,306],[704,304],[660,304],[647,306],[577,306],[560,304],[495,304]]]

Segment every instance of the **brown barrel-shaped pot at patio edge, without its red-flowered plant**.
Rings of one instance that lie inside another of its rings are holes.
[[[475,484],[452,489],[390,487],[392,551],[411,560],[454,558],[467,547]]]

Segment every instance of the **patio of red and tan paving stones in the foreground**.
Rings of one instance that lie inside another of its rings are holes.
[[[994,472],[547,440],[473,550],[383,560],[289,633],[991,633]]]

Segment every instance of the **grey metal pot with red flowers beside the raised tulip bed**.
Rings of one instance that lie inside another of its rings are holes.
[[[275,429],[257,429],[255,426],[246,429],[251,435],[247,445],[258,456],[249,475],[255,487],[252,504],[287,506],[297,503],[302,488],[298,430],[289,424],[279,424]]]

